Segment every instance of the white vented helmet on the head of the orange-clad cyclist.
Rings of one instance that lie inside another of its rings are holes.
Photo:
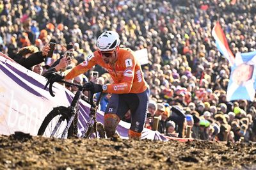
[[[115,50],[120,44],[118,33],[115,31],[106,31],[102,33],[97,40],[97,47],[100,51]]]

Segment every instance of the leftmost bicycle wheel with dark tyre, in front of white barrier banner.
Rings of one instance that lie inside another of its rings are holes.
[[[70,116],[68,114],[67,107],[63,107],[63,106],[55,107],[45,117],[41,127],[38,130],[37,135],[43,135],[45,137],[60,138],[69,120],[70,120]],[[55,128],[55,133],[52,134],[52,132],[54,131],[54,128]],[[70,134],[74,134],[74,128],[69,128],[67,135],[65,135],[65,138],[70,137]]]

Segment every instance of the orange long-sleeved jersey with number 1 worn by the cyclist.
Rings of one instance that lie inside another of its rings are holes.
[[[134,56],[131,49],[120,49],[116,53],[117,61],[115,68],[105,63],[99,50],[90,54],[83,63],[73,68],[65,77],[72,79],[81,73],[87,72],[92,66],[100,65],[106,68],[111,75],[114,83],[108,84],[108,88],[104,93],[142,93],[148,88],[147,82],[144,80],[143,72],[140,63]]]

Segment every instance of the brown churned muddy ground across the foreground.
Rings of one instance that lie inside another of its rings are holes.
[[[256,144],[0,135],[0,169],[256,169]]]

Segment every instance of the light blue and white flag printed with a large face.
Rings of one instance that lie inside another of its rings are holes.
[[[234,66],[231,68],[227,88],[227,101],[253,101],[256,89],[256,51],[237,53]]]

